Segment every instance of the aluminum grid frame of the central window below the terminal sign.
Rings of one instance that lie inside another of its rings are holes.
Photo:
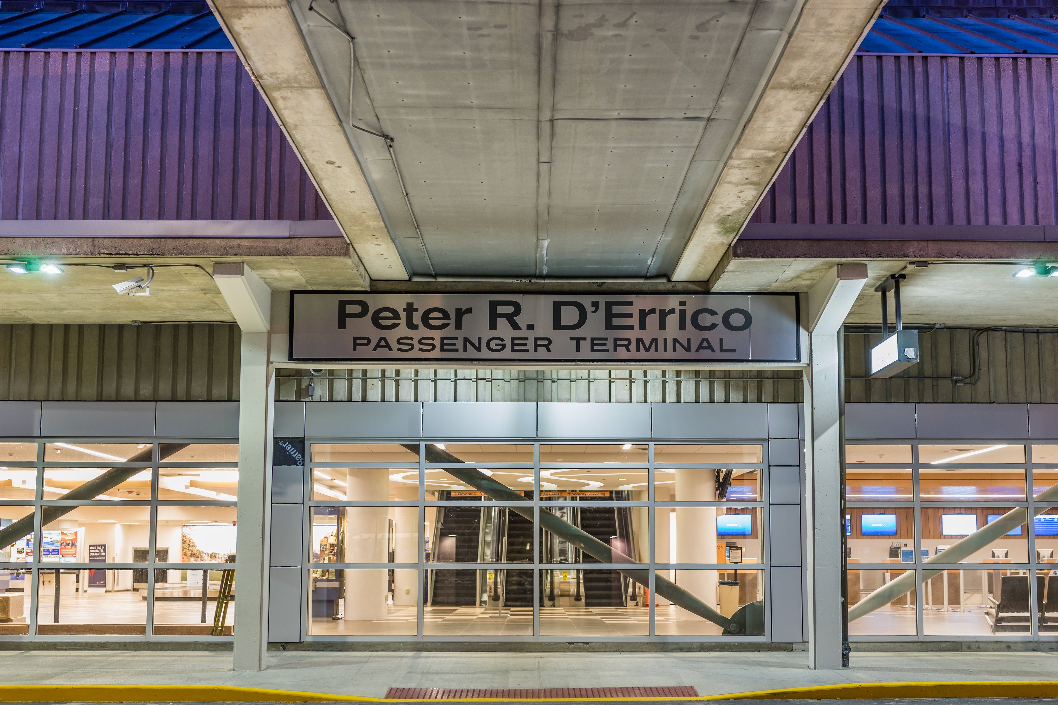
[[[358,444],[394,444],[394,443],[417,443],[419,445],[419,463],[416,465],[411,462],[403,463],[324,463],[324,462],[312,462],[310,459],[311,444],[313,443],[358,443]],[[533,445],[533,462],[532,463],[494,463],[494,462],[476,462],[476,463],[427,463],[425,462],[425,446],[427,444],[442,443],[445,445],[459,445],[459,444],[473,444],[473,445]],[[584,445],[584,444],[602,444],[602,445],[619,445],[623,443],[634,443],[637,445],[647,446],[647,459],[646,461],[640,462],[630,462],[630,463],[541,463],[540,462],[540,447],[542,444],[545,445]],[[724,634],[718,635],[658,635],[656,633],[656,618],[655,618],[655,602],[653,599],[649,600],[647,605],[647,633],[642,636],[591,636],[585,637],[578,635],[576,637],[577,642],[592,642],[592,643],[653,643],[653,642],[712,642],[712,643],[731,643],[731,639],[736,639],[737,643],[770,643],[771,635],[771,582],[769,579],[771,564],[770,564],[770,531],[769,531],[769,502],[768,502],[768,439],[545,439],[545,438],[534,438],[534,439],[515,439],[515,440],[504,440],[504,439],[459,439],[457,441],[444,438],[437,439],[408,439],[404,440],[394,440],[394,439],[351,439],[351,438],[334,438],[334,437],[308,437],[305,439],[306,444],[306,472],[305,472],[305,512],[304,512],[304,525],[303,525],[303,554],[302,554],[302,571],[303,579],[302,587],[304,589],[302,598],[302,641],[303,642],[360,642],[360,643],[406,643],[406,642],[431,642],[431,643],[511,643],[511,642],[537,642],[537,643],[557,643],[557,642],[569,642],[569,635],[541,635],[540,633],[540,615],[541,615],[541,586],[540,580],[542,576],[542,571],[546,570],[563,570],[563,571],[574,571],[574,570],[614,570],[615,568],[622,567],[626,568],[626,563],[543,563],[541,562],[541,546],[540,546],[540,509],[552,506],[595,506],[595,507],[644,507],[647,509],[647,560],[640,563],[639,565],[642,570],[646,570],[650,576],[649,585],[645,586],[650,590],[650,595],[655,595],[655,574],[660,570],[731,570],[731,563],[671,563],[671,562],[656,562],[655,561],[655,551],[654,551],[654,533],[655,533],[655,509],[661,507],[665,511],[672,507],[680,506],[692,506],[692,507],[718,507],[718,508],[731,508],[731,507],[753,507],[759,508],[759,516],[761,517],[758,522],[758,535],[761,542],[761,562],[753,563],[753,568],[746,570],[758,571],[759,590],[763,595],[764,599],[764,619],[765,619],[765,633],[762,636],[726,636]],[[698,469],[740,469],[740,468],[752,468],[759,471],[759,493],[756,501],[752,502],[733,502],[733,501],[712,501],[712,502],[690,502],[690,501],[655,501],[655,486],[654,486],[654,448],[656,445],[680,445],[680,444],[693,444],[693,445],[758,445],[761,446],[761,462],[760,463],[663,463],[665,468],[698,468]],[[532,499],[526,500],[525,502],[498,502],[495,500],[482,500],[476,505],[480,506],[531,506],[533,508],[534,525],[536,530],[533,532],[533,561],[531,563],[433,563],[426,562],[424,560],[424,550],[425,546],[425,511],[427,506],[467,506],[467,502],[459,501],[439,501],[439,500],[427,500],[425,497],[425,482],[424,482],[424,470],[433,468],[444,468],[444,467],[469,467],[482,465],[489,468],[497,469],[525,469],[527,472],[532,471],[533,474],[533,493]],[[541,490],[541,469],[552,469],[552,468],[568,468],[574,466],[577,468],[607,468],[607,469],[642,469],[646,468],[647,471],[647,499],[640,501],[604,501],[604,502],[574,502],[571,500],[547,500],[542,499],[540,495]],[[312,493],[312,478],[313,470],[315,468],[394,468],[394,469],[419,469],[419,501],[408,501],[408,500],[314,500]],[[419,507],[419,539],[418,539],[418,562],[415,563],[313,563],[312,558],[312,517],[313,508],[315,506],[418,506]],[[750,565],[750,563],[743,563],[743,565]],[[417,624],[416,624],[416,635],[350,635],[350,634],[312,634],[312,616],[311,616],[311,577],[312,571],[315,570],[358,570],[358,569],[386,569],[386,570],[412,570],[418,571],[416,575],[416,585],[419,587],[418,596],[416,600],[417,606]],[[532,570],[533,571],[533,631],[532,635],[424,635],[424,609],[425,609],[425,594],[422,589],[424,583],[424,571],[427,570]],[[546,609],[546,608],[545,608]]]

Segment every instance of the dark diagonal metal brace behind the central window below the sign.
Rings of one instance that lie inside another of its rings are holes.
[[[418,443],[401,444],[412,452],[419,451]],[[441,450],[437,446],[426,444],[427,463],[463,463],[452,453]],[[524,502],[525,497],[514,491],[507,485],[493,480],[485,472],[472,467],[446,467],[444,471],[462,482],[466,482],[474,489],[488,495],[499,502]],[[529,521],[533,520],[532,507],[511,506],[511,512],[519,514]],[[635,559],[624,555],[620,551],[606,545],[590,534],[581,531],[555,514],[541,507],[540,523],[547,531],[559,536],[570,545],[573,545],[587,555],[602,563],[635,563]],[[621,575],[632,578],[642,586],[650,585],[650,571],[645,569],[616,568]],[[681,607],[688,612],[698,615],[704,619],[717,625],[724,629],[725,634],[741,634],[744,636],[760,636],[764,634],[764,605],[761,601],[750,602],[741,608],[730,618],[712,609],[700,599],[683,590],[675,582],[655,574],[654,591],[670,600],[676,607]]]

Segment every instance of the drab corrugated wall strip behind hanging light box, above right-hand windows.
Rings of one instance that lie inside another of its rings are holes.
[[[977,331],[941,329],[922,333],[922,361],[889,379],[846,379],[846,402],[1058,403],[1058,331],[989,331],[979,338],[981,375],[974,381]],[[871,348],[881,335],[845,336],[845,375],[868,375]]]

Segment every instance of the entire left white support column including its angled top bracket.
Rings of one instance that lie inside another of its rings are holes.
[[[269,332],[272,292],[243,262],[217,262],[214,279],[242,329],[235,544],[238,624],[233,668],[260,671],[264,670],[268,647],[268,539],[275,408],[275,370]]]

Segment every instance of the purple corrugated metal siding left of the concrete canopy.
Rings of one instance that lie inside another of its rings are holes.
[[[330,220],[231,52],[0,52],[0,219]]]

